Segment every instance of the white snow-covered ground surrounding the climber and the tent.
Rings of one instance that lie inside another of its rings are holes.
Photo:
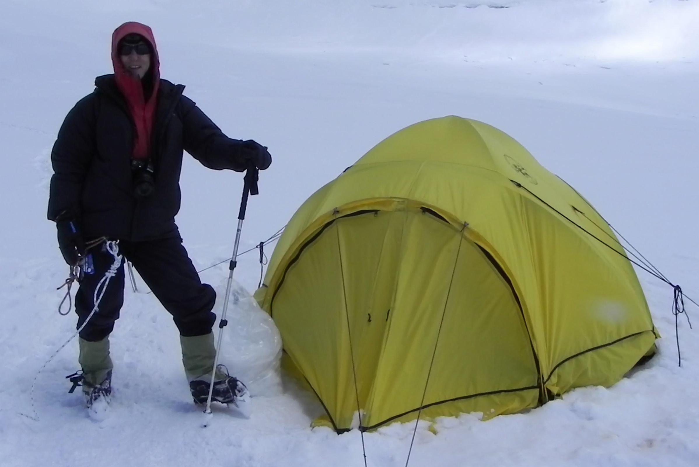
[[[162,76],[229,136],[255,138],[261,174],[243,250],[282,227],[317,187],[389,134],[461,115],[517,138],[670,280],[699,299],[699,2],[696,0],[3,0],[0,5],[0,465],[361,466],[357,431],[310,429],[322,409],[284,382],[251,419],[192,405],[177,331],[127,289],[112,338],[112,413],[95,423],[67,394],[74,318],[56,309],[66,268],[45,220],[50,148],[118,24],[150,24]],[[187,158],[178,224],[198,268],[232,251],[242,180]],[[202,273],[219,283],[226,266]],[[257,254],[236,278],[257,287]],[[577,389],[526,414],[417,429],[412,466],[699,465],[699,343],[672,289],[640,273],[660,354],[609,389]],[[143,283],[139,284],[145,292]],[[688,312],[699,316],[689,305]],[[413,424],[366,433],[369,466],[403,466]]]

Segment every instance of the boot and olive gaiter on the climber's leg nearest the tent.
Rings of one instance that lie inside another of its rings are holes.
[[[180,336],[182,344],[182,363],[189,380],[189,391],[194,403],[206,404],[211,385],[211,371],[216,358],[213,333],[204,336]],[[238,408],[247,403],[250,392],[243,382],[229,375],[224,365],[216,367],[214,387],[211,400],[219,403],[232,403]]]

